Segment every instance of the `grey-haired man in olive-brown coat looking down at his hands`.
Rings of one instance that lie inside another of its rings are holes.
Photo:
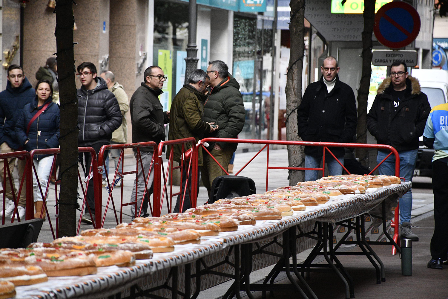
[[[207,90],[208,80],[209,77],[202,69],[196,69],[189,74],[187,84],[184,84],[172,100],[168,140],[194,137],[196,142],[198,142],[204,134],[211,133],[216,129],[216,127],[212,126],[214,125],[213,122],[207,123],[201,120],[203,105],[207,99],[207,95],[204,95],[203,92]],[[181,147],[181,144],[173,145],[173,160],[177,161],[179,165],[181,165]],[[191,143],[185,144],[185,151],[190,147]],[[170,156],[170,152],[171,147],[168,147],[167,159]],[[187,185],[186,173],[188,171],[188,165],[189,160],[184,160],[182,165],[181,194],[177,196],[176,207],[173,211],[175,213],[183,212],[191,207],[190,192],[194,191],[191,190],[192,169],[190,169]],[[202,151],[198,153],[198,166],[202,166]],[[197,186],[199,188],[199,182]]]

